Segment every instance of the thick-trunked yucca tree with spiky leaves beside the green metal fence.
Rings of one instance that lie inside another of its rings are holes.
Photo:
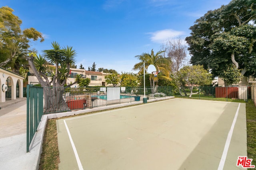
[[[41,86],[44,87],[44,113],[69,109],[62,98],[62,94],[64,93],[64,85],[69,76],[70,65],[75,62],[75,56],[76,51],[72,47],[65,47],[63,49],[57,42],[53,42],[52,49],[44,50],[44,56],[30,53],[27,57],[36,78]],[[49,69],[48,62],[55,64],[54,70]],[[48,77],[51,77],[51,79]],[[69,84],[68,86],[71,85]]]

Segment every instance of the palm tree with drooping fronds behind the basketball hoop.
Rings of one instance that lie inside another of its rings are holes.
[[[163,57],[163,53],[165,51],[158,51],[154,54],[153,49],[151,53],[142,53],[141,55],[136,55],[135,57],[140,60],[140,63],[136,63],[133,67],[133,70],[139,70],[139,74],[143,74],[143,63],[145,63],[145,68],[148,68],[150,64],[153,64],[156,67],[157,72],[161,72],[156,77],[154,74],[150,75],[150,88],[156,92],[157,90],[157,82],[159,76],[163,76],[165,78],[170,77],[171,72],[171,61],[168,58]],[[155,88],[156,87],[156,88]]]

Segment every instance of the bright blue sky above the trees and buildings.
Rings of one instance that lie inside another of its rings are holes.
[[[57,41],[72,46],[76,65],[132,70],[136,55],[160,51],[167,39],[189,36],[189,27],[208,10],[230,0],[1,0],[22,20],[21,28],[34,27],[45,41],[33,42],[42,54]]]

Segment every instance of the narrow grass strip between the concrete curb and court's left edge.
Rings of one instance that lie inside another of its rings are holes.
[[[59,163],[56,119],[49,119],[44,131],[39,170],[58,170]]]

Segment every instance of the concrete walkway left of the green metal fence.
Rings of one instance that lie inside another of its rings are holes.
[[[8,100],[0,107],[0,169],[36,169],[36,152],[26,153],[26,98]]]

